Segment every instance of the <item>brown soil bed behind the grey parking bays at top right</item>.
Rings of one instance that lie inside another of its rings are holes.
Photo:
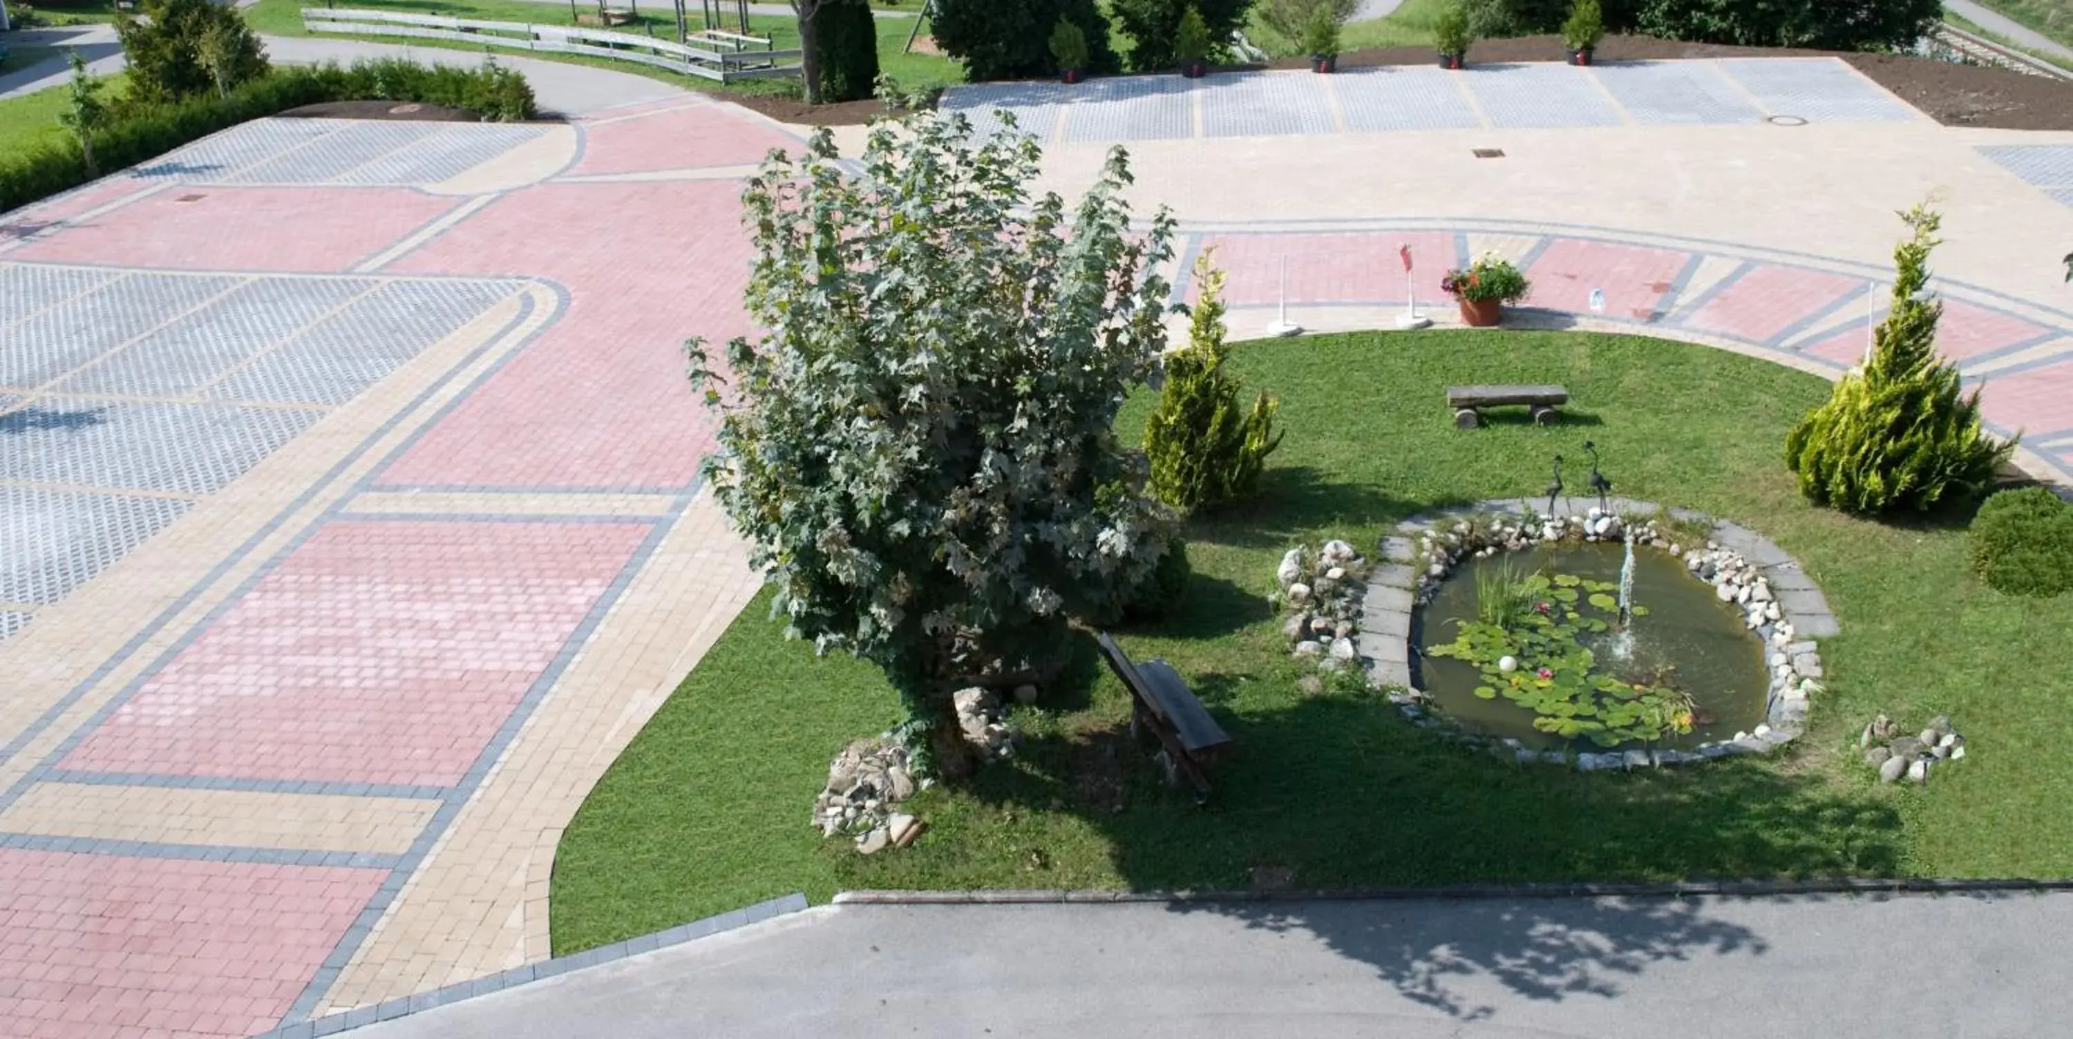
[[[1559,62],[1559,35],[1478,39],[1470,62]],[[1729,48],[1719,44],[1677,44],[1646,35],[1609,35],[1598,44],[1598,62],[1673,58],[1791,58],[1835,54],[1880,87],[1928,112],[1944,127],[1992,127],[2003,131],[2073,131],[2073,81],[2032,77],[2007,68],[1951,64],[1903,54],[1837,54],[1826,50]],[[1339,68],[1364,64],[1432,64],[1430,48],[1360,50],[1339,56]],[[1281,58],[1273,68],[1308,68],[1308,58]]]

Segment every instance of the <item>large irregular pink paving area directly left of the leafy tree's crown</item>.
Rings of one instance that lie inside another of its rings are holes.
[[[740,182],[543,185],[512,193],[398,270],[527,272],[568,288],[539,342],[475,390],[379,479],[408,485],[686,487],[713,419],[684,380],[682,342],[715,355],[748,334]],[[612,232],[543,236],[543,226]]]

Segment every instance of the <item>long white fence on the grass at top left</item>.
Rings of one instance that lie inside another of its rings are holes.
[[[589,54],[593,58],[653,64],[672,73],[717,79],[721,83],[800,75],[800,52],[796,50],[742,50],[730,46],[732,41],[715,41],[723,50],[705,50],[674,39],[574,25],[448,19],[442,15],[404,15],[398,10],[303,8],[303,27],[313,33],[408,35],[419,39],[458,39],[485,48]]]

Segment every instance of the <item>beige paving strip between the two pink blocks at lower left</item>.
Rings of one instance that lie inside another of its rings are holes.
[[[41,782],[0,813],[0,832],[402,854],[437,809],[408,798]]]

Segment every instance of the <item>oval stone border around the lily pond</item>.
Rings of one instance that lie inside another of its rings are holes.
[[[1356,653],[1368,672],[1368,682],[1389,691],[1405,718],[1426,730],[1451,732],[1472,747],[1488,747],[1499,757],[1515,761],[1544,761],[1582,771],[1634,769],[1656,765],[1687,765],[1743,753],[1768,755],[1806,732],[1808,705],[1820,693],[1822,664],[1816,639],[1837,635],[1841,628],[1828,612],[1828,599],[1806,574],[1797,560],[1770,543],[1764,535],[1748,527],[1716,521],[1687,508],[1663,508],[1652,502],[1629,498],[1609,498],[1609,512],[1600,514],[1596,504],[1563,500],[1555,514],[1540,512],[1542,502],[1530,498],[1507,498],[1476,506],[1447,508],[1412,516],[1397,525],[1397,533],[1383,539],[1379,564],[1368,574],[1368,595],[1362,603],[1360,635]],[[1503,543],[1466,543],[1474,518],[1497,521]],[[1679,545],[1675,537],[1656,533],[1650,521],[1673,516],[1683,523],[1710,523],[1712,537],[1706,545]],[[1528,518],[1536,523],[1524,523]],[[1631,531],[1629,531],[1631,525]],[[1412,612],[1422,606],[1447,577],[1455,562],[1472,554],[1495,554],[1538,545],[1544,535],[1582,535],[1592,541],[1619,541],[1629,533],[1652,541],[1669,541],[1683,547],[1685,568],[1719,589],[1723,601],[1743,608],[1748,626],[1762,641],[1770,664],[1770,705],[1766,722],[1754,732],[1739,732],[1733,740],[1702,742],[1692,751],[1634,749],[1607,753],[1534,751],[1520,740],[1499,740],[1464,732],[1455,722],[1426,709],[1426,695],[1412,682]],[[1430,541],[1430,545],[1420,545]]]

